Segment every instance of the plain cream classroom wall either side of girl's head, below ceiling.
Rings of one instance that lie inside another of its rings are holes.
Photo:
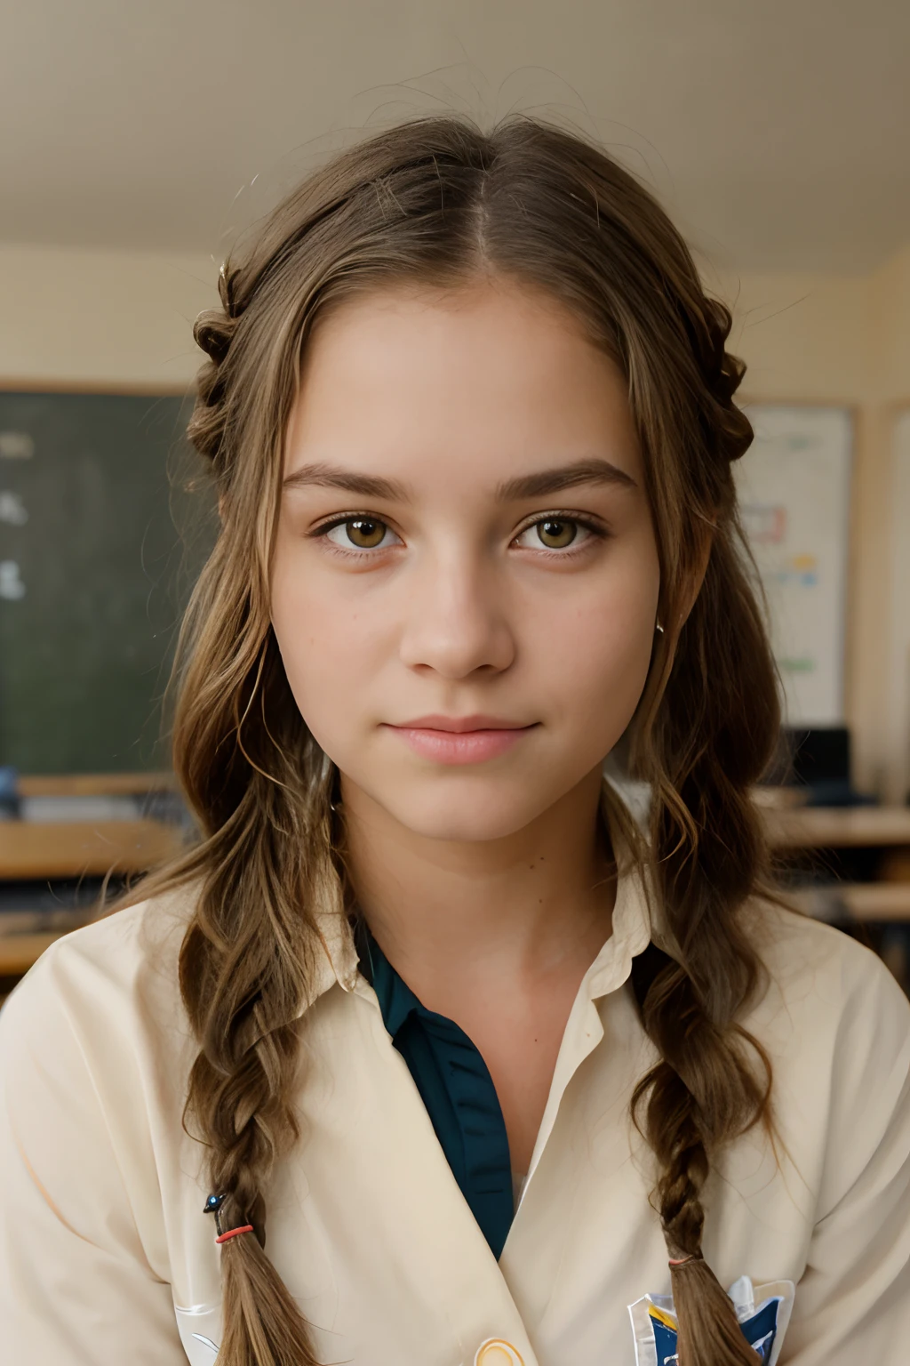
[[[0,245],[0,384],[188,385],[201,359],[192,318],[217,301],[216,279],[206,255]],[[734,309],[744,398],[854,408],[847,720],[860,785],[902,799],[891,490],[894,422],[910,406],[910,245],[872,276],[707,266],[705,280]]]

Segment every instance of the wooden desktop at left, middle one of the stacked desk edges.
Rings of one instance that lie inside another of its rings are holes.
[[[180,847],[162,821],[0,821],[0,878],[145,873]]]

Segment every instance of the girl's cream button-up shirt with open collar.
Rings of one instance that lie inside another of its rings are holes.
[[[194,1042],[176,955],[188,896],[60,940],[0,1012],[0,1359],[210,1366],[218,1257],[205,1153],[180,1123]],[[303,1132],[267,1198],[267,1251],[323,1363],[633,1366],[628,1306],[669,1294],[629,1123],[654,1059],[629,985],[651,928],[637,876],[574,1001],[497,1264],[341,925],[304,1016]],[[705,1190],[724,1285],[797,1283],[780,1366],[910,1351],[910,1005],[877,958],[754,908],[783,1139],[734,1143]],[[482,1344],[487,1343],[487,1347]],[[498,1343],[499,1346],[494,1346]]]

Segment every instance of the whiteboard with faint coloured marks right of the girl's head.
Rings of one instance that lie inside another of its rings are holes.
[[[734,464],[742,522],[768,598],[790,725],[843,724],[853,423],[835,407],[756,403]]]

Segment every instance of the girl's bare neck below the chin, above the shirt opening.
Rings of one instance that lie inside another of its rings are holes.
[[[610,934],[615,869],[598,768],[497,840],[432,840],[344,785],[347,862],[379,947],[422,997],[580,977]]]

